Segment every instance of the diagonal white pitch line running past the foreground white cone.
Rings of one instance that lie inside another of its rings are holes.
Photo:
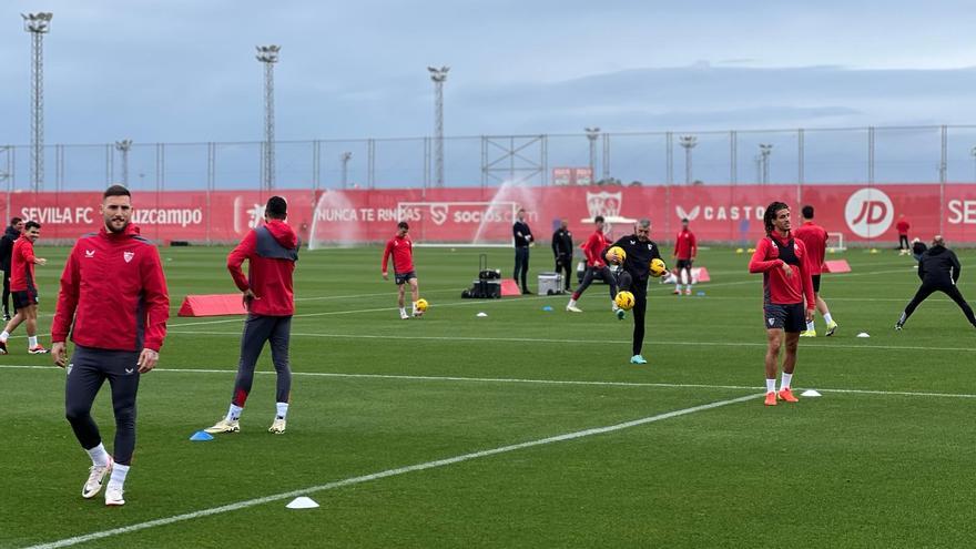
[[[658,414],[655,416],[644,417],[641,419],[624,421],[622,424],[609,425],[606,427],[594,427],[591,429],[583,429],[583,430],[578,430],[578,431],[573,431],[573,433],[567,433],[563,435],[556,435],[552,437],[529,440],[527,443],[519,443],[519,444],[514,444],[514,445],[509,445],[509,446],[501,446],[501,447],[491,448],[488,450],[474,451],[470,454],[462,454],[460,456],[455,456],[455,457],[450,457],[450,458],[437,459],[434,461],[426,461],[423,464],[409,465],[406,467],[398,467],[395,469],[387,469],[384,471],[373,472],[369,475],[363,475],[359,477],[349,477],[349,478],[345,478],[342,480],[335,480],[333,482],[326,482],[324,485],[303,488],[299,490],[292,490],[292,491],[286,491],[286,492],[282,492],[282,494],[275,494],[272,496],[265,496],[262,498],[248,499],[245,501],[237,501],[236,504],[230,504],[230,505],[224,505],[224,506],[220,506],[220,507],[212,507],[210,509],[201,509],[199,511],[186,512],[183,515],[176,515],[173,517],[166,517],[166,518],[161,518],[161,519],[156,519],[156,520],[150,520],[148,522],[139,522],[135,525],[123,526],[121,528],[113,528],[111,530],[103,530],[100,532],[92,532],[92,533],[87,533],[83,536],[77,536],[73,538],[67,538],[67,539],[52,541],[52,542],[48,542],[48,543],[41,543],[41,545],[32,546],[28,549],[54,549],[54,548],[59,548],[59,547],[71,547],[71,546],[75,546],[79,543],[93,541],[96,539],[120,536],[123,533],[131,533],[134,531],[145,530],[149,528],[155,528],[157,526],[166,526],[166,525],[172,525],[174,522],[182,522],[185,520],[193,520],[193,519],[197,519],[197,518],[202,518],[202,517],[210,517],[212,515],[220,515],[220,514],[224,514],[224,512],[236,511],[240,509],[246,509],[248,507],[255,507],[258,505],[271,504],[274,501],[291,499],[291,498],[295,498],[298,496],[306,496],[306,495],[315,494],[315,492],[319,492],[319,491],[333,490],[333,489],[343,488],[346,486],[369,482],[373,480],[379,480],[383,478],[395,477],[398,475],[405,475],[407,472],[434,469],[437,467],[446,467],[448,465],[460,464],[462,461],[469,461],[471,459],[478,459],[478,458],[489,457],[489,456],[497,456],[499,454],[507,454],[510,451],[521,450],[521,449],[526,449],[526,448],[533,448],[537,446],[545,446],[545,445],[549,445],[549,444],[553,444],[553,443],[562,443],[566,440],[575,440],[577,438],[591,437],[594,435],[603,435],[603,434],[613,433],[617,430],[629,429],[631,427],[639,427],[641,425],[652,424],[652,423],[661,421],[664,419],[671,419],[672,417],[687,416],[689,414],[694,414],[697,411],[705,411],[705,410],[719,408],[722,406],[729,406],[731,404],[744,403],[746,400],[752,400],[752,399],[755,399],[761,396],[763,396],[763,395],[760,393],[760,394],[746,395],[746,396],[739,397],[739,398],[731,398],[728,400],[718,400],[714,403],[703,404],[701,406],[693,406],[691,408],[683,408],[680,410],[667,411],[664,414]]]

